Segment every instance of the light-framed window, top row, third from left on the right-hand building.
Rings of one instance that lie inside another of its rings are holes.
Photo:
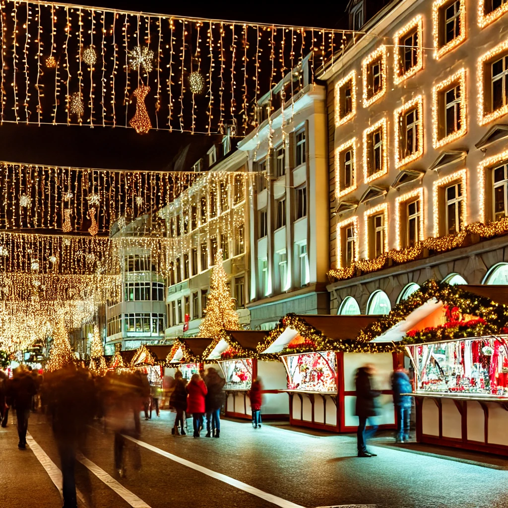
[[[394,35],[396,84],[423,69],[422,33],[422,16],[416,16]]]

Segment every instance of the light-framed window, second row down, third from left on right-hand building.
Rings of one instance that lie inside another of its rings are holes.
[[[400,168],[423,155],[423,99],[418,96],[395,110],[395,166]]]

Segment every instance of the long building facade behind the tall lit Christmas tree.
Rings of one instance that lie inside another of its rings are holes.
[[[250,325],[247,203],[252,188],[246,163],[245,152],[232,151],[231,137],[224,136],[220,145],[210,148],[207,160],[193,165],[203,176],[159,212],[169,237],[168,338],[197,335],[218,249],[231,277],[240,324]]]

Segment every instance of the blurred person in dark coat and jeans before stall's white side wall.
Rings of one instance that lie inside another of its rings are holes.
[[[376,457],[375,453],[367,451],[366,440],[374,435],[377,425],[371,419],[377,416],[376,398],[380,392],[372,389],[372,376],[374,374],[372,364],[364,365],[356,373],[356,412],[358,416],[358,457]],[[366,431],[367,420],[371,424],[370,430]]]

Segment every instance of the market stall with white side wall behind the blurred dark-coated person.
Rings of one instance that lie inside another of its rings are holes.
[[[377,370],[376,388],[382,391],[381,428],[393,428],[395,412],[390,375],[400,361],[390,345],[361,344],[353,340],[377,316],[297,315],[283,317],[258,347],[277,354],[287,370],[292,425],[334,432],[353,432],[355,373],[371,363]]]

